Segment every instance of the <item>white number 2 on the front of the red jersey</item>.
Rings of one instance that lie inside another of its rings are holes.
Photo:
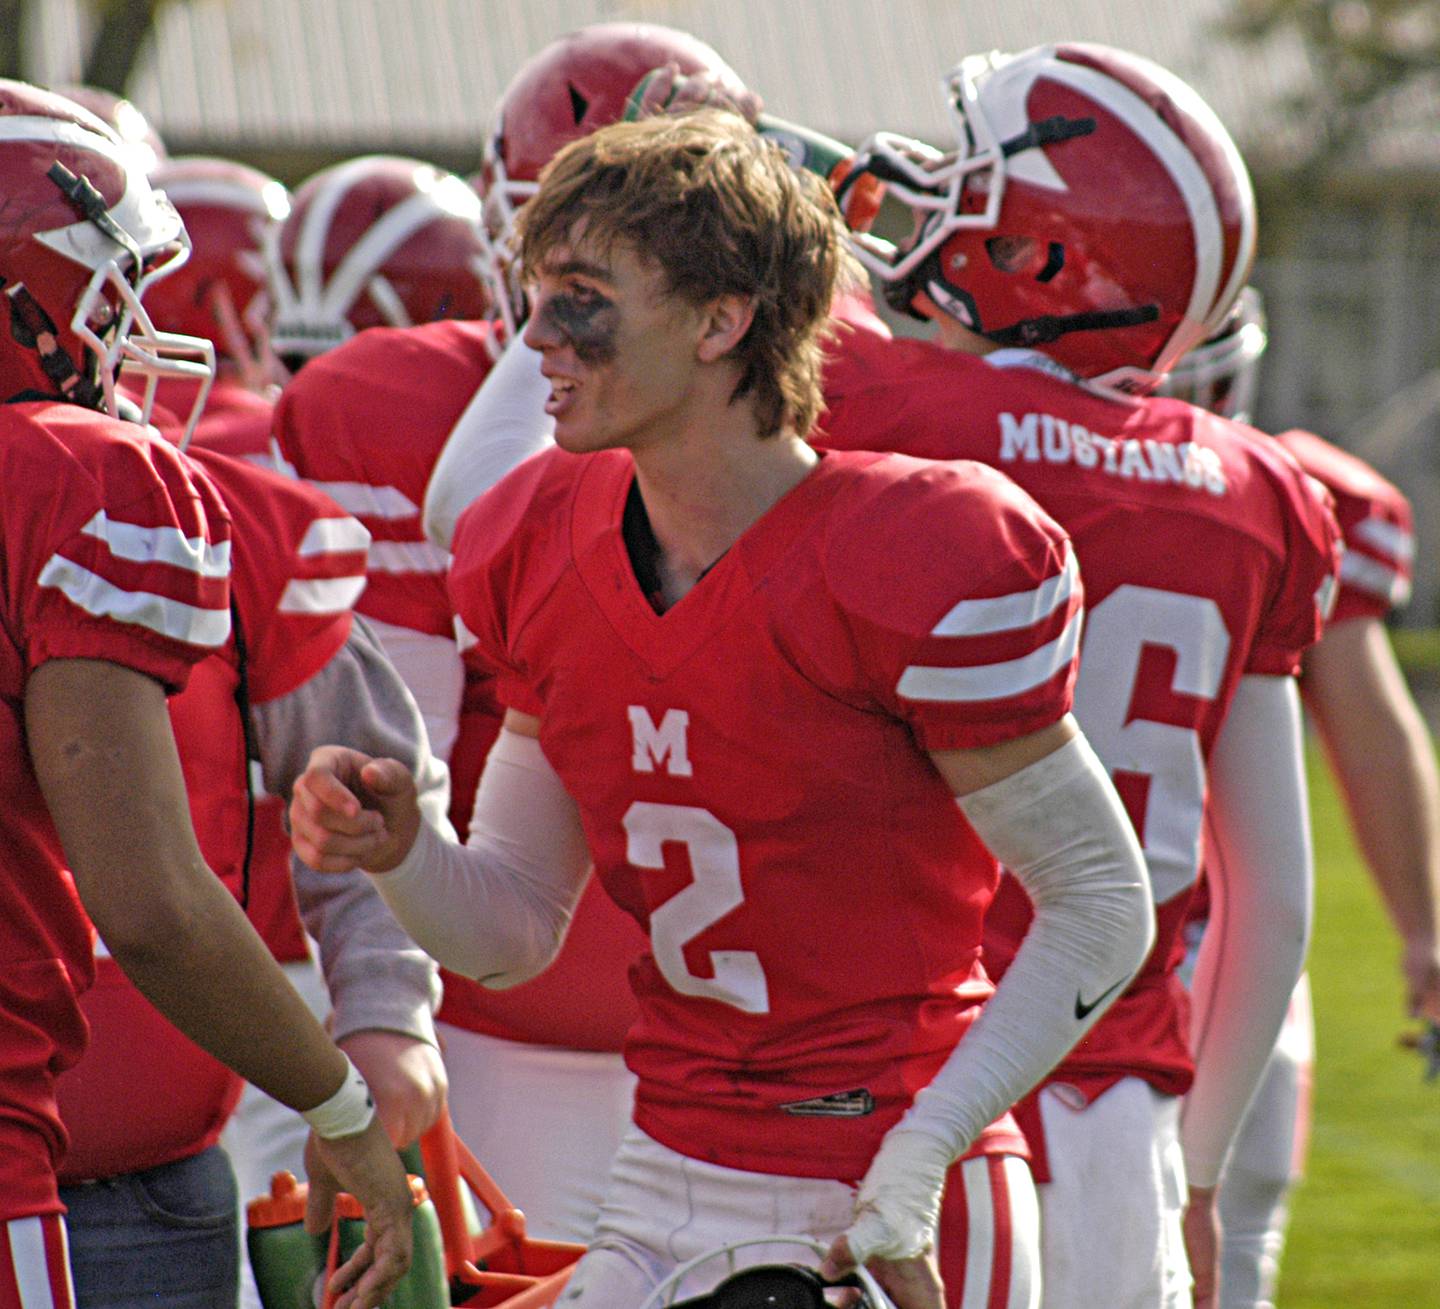
[[[636,801],[625,811],[625,857],[636,868],[664,868],[662,847],[685,847],[694,878],[649,916],[655,963],[681,995],[719,999],[746,1014],[768,1014],[770,994],[753,950],[711,950],[713,978],[685,966],[685,946],[744,901],[740,844],[714,814],[690,805]]]

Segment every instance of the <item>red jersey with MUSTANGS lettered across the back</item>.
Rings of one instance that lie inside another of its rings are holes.
[[[1293,461],[1257,449],[1248,429],[1178,400],[1109,397],[1043,356],[999,357],[1011,366],[927,341],[851,351],[842,338],[819,439],[981,459],[1070,533],[1087,606],[1074,711],[1140,837],[1158,936],[1051,1080],[1093,1097],[1140,1076],[1179,1094],[1194,1064],[1174,969],[1200,871],[1205,759],[1241,675],[1293,674],[1318,639],[1338,531]],[[1030,916],[1007,877],[985,925],[992,972]]]

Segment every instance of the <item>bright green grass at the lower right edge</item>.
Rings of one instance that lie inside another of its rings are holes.
[[[1377,760],[1377,766],[1381,766]],[[1440,1306],[1440,1081],[1400,1050],[1398,952],[1312,752],[1315,1129],[1279,1309]]]

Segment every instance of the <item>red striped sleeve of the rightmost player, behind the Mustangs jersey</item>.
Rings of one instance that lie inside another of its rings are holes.
[[[1345,539],[1331,622],[1384,618],[1410,600],[1416,537],[1410,501],[1374,468],[1313,432],[1276,438],[1335,497]]]

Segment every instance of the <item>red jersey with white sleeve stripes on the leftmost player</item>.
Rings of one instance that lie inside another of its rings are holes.
[[[85,1044],[91,927],[24,743],[24,685],[107,660],[177,690],[230,631],[230,521],[144,429],[78,405],[0,409],[0,1221],[59,1211],[55,1079]]]

